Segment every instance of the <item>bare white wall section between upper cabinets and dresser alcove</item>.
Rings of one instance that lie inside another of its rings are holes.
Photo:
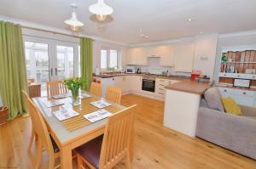
[[[202,70],[211,79],[214,74],[217,43],[218,34],[195,37],[194,70]]]

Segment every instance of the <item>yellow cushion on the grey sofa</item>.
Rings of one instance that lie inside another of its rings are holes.
[[[234,99],[223,98],[222,103],[226,113],[230,113],[232,115],[242,115],[241,108],[238,104],[236,104],[236,101]]]

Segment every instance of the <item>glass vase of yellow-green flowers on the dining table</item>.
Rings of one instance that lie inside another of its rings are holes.
[[[84,79],[81,77],[70,77],[64,79],[63,84],[67,86],[72,93],[72,104],[79,104],[79,89],[84,85]]]

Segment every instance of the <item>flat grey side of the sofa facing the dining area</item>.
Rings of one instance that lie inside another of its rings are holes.
[[[195,135],[256,159],[256,120],[200,108]]]

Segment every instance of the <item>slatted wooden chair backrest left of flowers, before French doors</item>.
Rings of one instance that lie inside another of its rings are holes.
[[[68,92],[67,87],[62,83],[62,81],[46,82],[46,88],[48,98],[54,95],[66,94]]]

